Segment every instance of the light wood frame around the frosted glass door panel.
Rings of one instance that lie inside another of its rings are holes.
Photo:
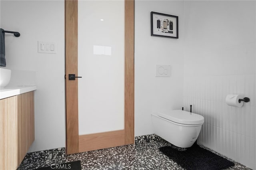
[[[79,135],[78,80],[68,80],[68,74],[78,75],[78,0],[65,0],[66,154],[99,149],[93,143],[102,148],[134,144],[134,0],[125,0],[124,8],[124,130]],[[79,146],[86,142],[90,147]]]

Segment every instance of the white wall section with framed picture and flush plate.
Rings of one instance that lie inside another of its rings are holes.
[[[135,1],[135,136],[152,134],[151,113],[182,108],[184,2]],[[179,38],[150,36],[150,12],[179,18]],[[156,64],[171,65],[170,77],[156,77]]]

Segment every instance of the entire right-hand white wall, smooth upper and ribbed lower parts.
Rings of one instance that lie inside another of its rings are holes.
[[[249,168],[256,164],[255,1],[185,1],[184,106],[203,115],[198,142]],[[243,107],[227,94],[251,99]]]

